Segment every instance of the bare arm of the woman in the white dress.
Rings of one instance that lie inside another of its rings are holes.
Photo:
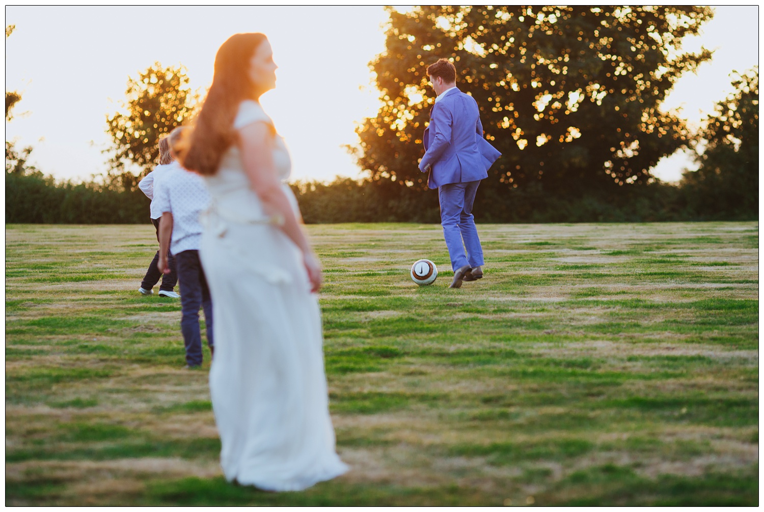
[[[263,204],[265,214],[283,219],[280,229],[303,251],[313,291],[321,286],[321,266],[308,242],[274,167],[274,135],[265,123],[251,123],[238,130],[241,163],[250,186]]]

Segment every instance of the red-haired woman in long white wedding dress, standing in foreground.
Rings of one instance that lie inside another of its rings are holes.
[[[286,185],[289,153],[258,101],[276,86],[276,69],[264,34],[225,41],[176,153],[212,196],[199,254],[215,316],[209,388],[225,478],[299,491],[348,466],[329,417],[321,266]]]

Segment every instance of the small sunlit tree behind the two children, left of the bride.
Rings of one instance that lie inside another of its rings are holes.
[[[160,137],[189,118],[196,95],[189,88],[183,66],[164,67],[160,63],[139,72],[137,79],[128,78],[125,95],[125,112],[106,116],[112,147],[105,153],[113,152],[108,159],[108,182],[131,190],[157,165]],[[128,163],[141,169],[138,176],[125,169]]]

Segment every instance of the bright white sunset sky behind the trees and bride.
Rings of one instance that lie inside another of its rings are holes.
[[[669,96],[693,124],[730,92],[733,69],[758,62],[757,6],[718,6],[701,37],[686,44],[714,50],[698,75]],[[138,21],[140,20],[140,23]],[[263,32],[274,48],[277,89],[262,98],[286,139],[293,179],[360,175],[345,144],[377,108],[367,67],[384,50],[381,7],[20,7],[5,8],[16,30],[5,40],[5,86],[21,92],[6,140],[34,147],[31,163],[57,179],[89,179],[106,170],[105,116],[125,98],[128,76],[155,61],[183,64],[193,89],[212,82],[218,47],[237,32]],[[656,175],[678,179],[685,156],[664,159]]]

